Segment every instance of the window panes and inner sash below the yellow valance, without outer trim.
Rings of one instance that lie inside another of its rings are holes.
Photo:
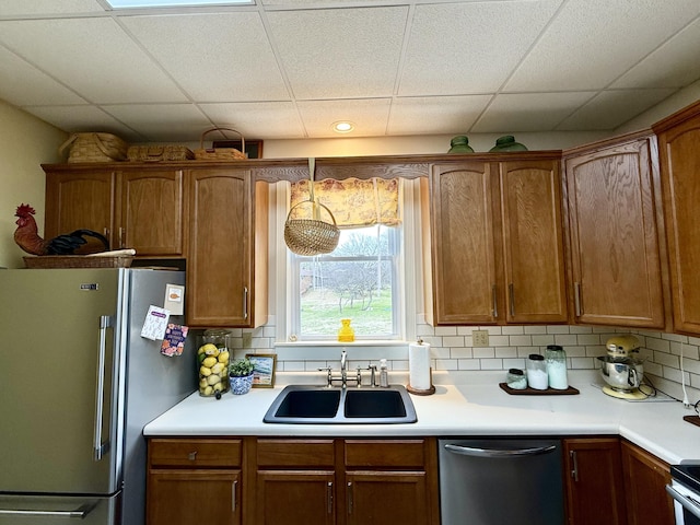
[[[335,340],[340,319],[355,339],[400,337],[400,226],[342,230],[330,254],[291,254],[291,332],[300,340]]]

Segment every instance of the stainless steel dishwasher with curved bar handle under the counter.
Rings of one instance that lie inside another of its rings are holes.
[[[442,525],[563,525],[559,440],[441,439]]]

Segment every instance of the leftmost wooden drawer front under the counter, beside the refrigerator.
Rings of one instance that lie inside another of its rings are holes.
[[[170,467],[238,467],[241,440],[171,440],[149,441],[150,466]]]

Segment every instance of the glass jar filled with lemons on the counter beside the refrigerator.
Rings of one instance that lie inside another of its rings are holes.
[[[220,397],[229,392],[229,361],[226,347],[229,330],[205,330],[199,336],[197,349],[197,369],[199,374],[199,395]]]

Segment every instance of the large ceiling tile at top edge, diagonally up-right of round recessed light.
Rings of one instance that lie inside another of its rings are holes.
[[[417,5],[398,94],[498,90],[560,1]]]

